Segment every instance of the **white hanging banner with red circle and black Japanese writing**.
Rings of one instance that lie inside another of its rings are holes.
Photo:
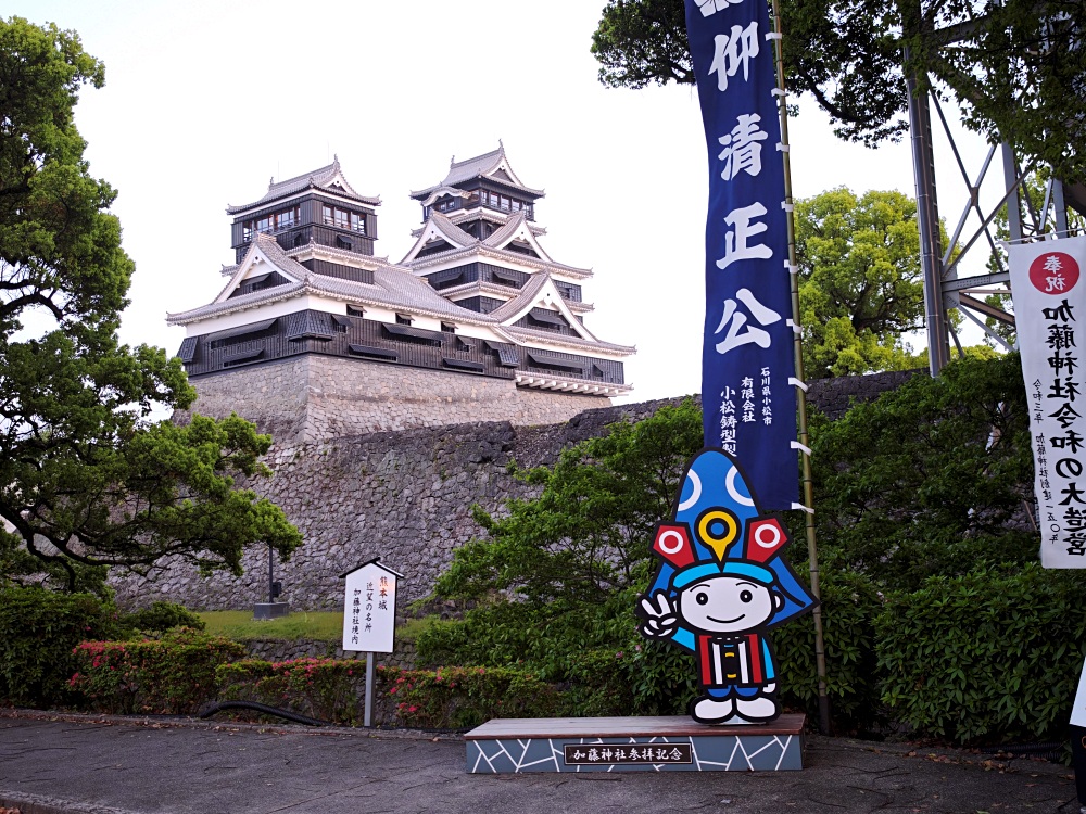
[[[1009,246],[1040,564],[1086,568],[1086,237]]]

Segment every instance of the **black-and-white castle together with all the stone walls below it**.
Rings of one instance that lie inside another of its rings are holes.
[[[552,465],[568,444],[659,404],[610,406],[632,390],[623,360],[634,348],[585,326],[592,272],[540,244],[543,191],[504,148],[453,162],[411,195],[422,226],[391,263],[374,253],[380,200],[358,194],[338,162],[273,182],[227,209],[236,264],[219,295],[168,317],[188,333],[178,355],[199,393],[193,410],[237,411],[275,437],[274,474],[254,487],[305,537],[276,563],[298,609],[341,608],[339,575],[377,556],[404,573],[407,600],[427,596],[453,550],[480,534],[470,507],[500,512],[530,493],[510,460]],[[826,380],[811,397],[832,414],[901,380]],[[244,608],[267,597],[267,552],[248,551],[244,569],[112,580],[129,606]]]

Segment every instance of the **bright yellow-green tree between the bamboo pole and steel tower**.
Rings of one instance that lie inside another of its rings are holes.
[[[841,187],[797,202],[795,214],[808,377],[923,367],[902,339],[924,320],[915,202]]]

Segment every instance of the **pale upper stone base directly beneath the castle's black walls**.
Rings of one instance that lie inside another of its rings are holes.
[[[517,387],[493,379],[366,359],[305,354],[192,380],[193,411],[231,411],[282,444],[315,443],[363,433],[508,421],[553,424],[607,407],[601,396]]]

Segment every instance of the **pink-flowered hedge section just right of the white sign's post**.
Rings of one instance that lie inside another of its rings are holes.
[[[397,722],[418,729],[464,729],[492,717],[561,713],[558,691],[531,673],[509,667],[377,667],[380,689]]]

